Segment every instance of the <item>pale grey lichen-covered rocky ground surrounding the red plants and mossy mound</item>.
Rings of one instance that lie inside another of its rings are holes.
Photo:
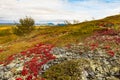
[[[71,48],[54,47],[50,52],[57,58],[42,65],[40,75],[55,64],[80,59],[83,60],[80,66],[82,69],[82,78],[80,80],[120,80],[119,52],[114,57],[111,57],[106,54],[105,50],[101,49],[102,46],[94,51],[84,47],[83,43],[71,45]],[[32,56],[34,55],[29,57],[17,55],[10,64],[6,66],[0,65],[0,80],[15,80],[16,77],[20,77],[24,63],[31,60]],[[24,58],[24,60],[21,60],[21,58]],[[86,59],[89,64],[84,63]]]

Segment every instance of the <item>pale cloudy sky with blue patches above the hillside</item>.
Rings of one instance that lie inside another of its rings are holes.
[[[0,23],[25,16],[36,23],[101,19],[120,13],[120,0],[0,0]]]

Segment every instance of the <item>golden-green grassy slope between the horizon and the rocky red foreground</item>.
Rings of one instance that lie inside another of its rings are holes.
[[[24,37],[16,36],[12,34],[11,28],[2,26],[0,28],[0,43],[1,46],[3,46],[4,48],[4,54],[1,56],[0,59],[2,60],[4,58],[3,56],[6,54],[10,55],[18,53],[40,42],[52,43],[57,46],[79,43],[81,41],[84,41],[87,36],[93,34],[94,31],[102,29],[101,27],[99,27],[101,24],[107,26],[107,24],[112,23],[114,24],[113,28],[119,28],[119,18],[120,15],[115,15],[101,20],[93,20],[63,27],[38,26],[39,29]]]

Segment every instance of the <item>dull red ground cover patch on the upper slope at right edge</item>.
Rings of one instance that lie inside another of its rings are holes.
[[[91,51],[103,49],[102,52],[113,57],[120,50],[120,31],[113,28],[105,28],[96,31],[92,36],[85,39]],[[99,46],[96,44],[98,43]]]

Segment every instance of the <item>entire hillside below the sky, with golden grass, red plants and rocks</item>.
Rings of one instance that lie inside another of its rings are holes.
[[[36,26],[36,30],[26,36],[16,36],[12,27],[0,27],[0,70],[8,66],[14,79],[21,76],[32,79],[39,76],[39,80],[44,80],[41,77],[103,80],[106,76],[106,80],[120,79],[120,15],[66,26]],[[5,75],[2,72],[0,74]]]

